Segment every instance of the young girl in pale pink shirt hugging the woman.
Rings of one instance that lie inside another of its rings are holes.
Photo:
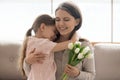
[[[35,36],[31,35],[32,30]],[[30,73],[26,73],[28,80],[55,80],[56,64],[53,53],[67,49],[68,43],[76,41],[74,36],[71,40],[55,43],[53,41],[56,39],[56,33],[55,20],[46,14],[38,16],[33,26],[27,31],[20,58],[21,66],[23,66],[23,59],[33,49],[36,53],[46,54],[43,63],[38,61],[31,65]]]

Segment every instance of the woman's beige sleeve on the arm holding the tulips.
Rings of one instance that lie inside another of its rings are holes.
[[[94,50],[89,42],[84,42],[83,45],[89,46],[93,54],[92,58],[86,58],[82,62],[82,70],[75,80],[94,80],[95,78],[95,61],[94,61]]]

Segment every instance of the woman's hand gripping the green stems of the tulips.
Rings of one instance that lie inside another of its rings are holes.
[[[76,77],[80,74],[80,70],[69,64],[66,65],[64,72],[71,77]]]

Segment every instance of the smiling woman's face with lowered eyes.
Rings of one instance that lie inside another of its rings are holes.
[[[61,35],[69,35],[77,22],[73,16],[71,16],[67,11],[59,9],[55,13],[56,16],[56,27]]]

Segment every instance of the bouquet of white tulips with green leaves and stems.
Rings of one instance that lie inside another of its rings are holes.
[[[69,43],[69,60],[68,64],[71,66],[76,66],[85,58],[92,58],[91,50],[88,46],[81,46],[80,42]],[[63,73],[62,80],[66,80],[68,78],[67,74]]]

